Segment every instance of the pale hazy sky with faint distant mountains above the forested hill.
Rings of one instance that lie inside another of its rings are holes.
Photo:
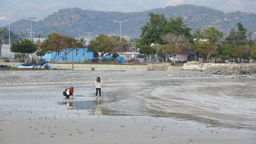
[[[195,4],[211,7],[223,12],[254,12],[256,0],[1,0],[0,13],[11,14],[11,22],[36,17],[43,20],[47,15],[61,8],[90,9],[98,11],[145,11],[164,8],[168,5]],[[0,26],[8,24],[8,19],[1,16]]]

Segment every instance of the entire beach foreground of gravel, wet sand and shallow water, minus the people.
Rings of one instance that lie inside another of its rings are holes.
[[[1,72],[0,143],[255,143],[255,79],[181,73]]]

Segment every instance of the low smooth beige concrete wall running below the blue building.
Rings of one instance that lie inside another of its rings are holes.
[[[17,67],[20,62],[0,62],[0,65]],[[52,68],[72,69],[72,64],[48,63]],[[74,64],[74,70],[128,70],[128,71],[147,71],[146,65],[106,65],[106,64]]]

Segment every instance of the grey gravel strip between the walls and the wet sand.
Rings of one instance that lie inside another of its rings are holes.
[[[0,86],[89,84],[100,76],[103,83],[172,79],[256,78],[252,75],[210,75],[199,71],[1,71]]]

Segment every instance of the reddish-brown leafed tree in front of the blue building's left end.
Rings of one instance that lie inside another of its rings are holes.
[[[60,35],[58,33],[51,33],[47,35],[48,38],[43,42],[41,48],[43,51],[47,53],[55,52],[55,57],[53,58],[53,62],[55,61],[58,51],[63,51],[66,48],[72,48],[72,46],[81,46],[82,44],[74,41],[73,36]],[[72,49],[68,51],[71,52]],[[63,56],[61,56],[63,57]],[[61,57],[59,57],[56,61],[58,61]]]

